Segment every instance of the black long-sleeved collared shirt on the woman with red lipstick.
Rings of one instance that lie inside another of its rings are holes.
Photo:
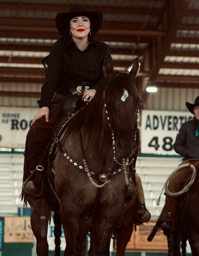
[[[50,107],[55,91],[67,93],[69,88],[81,82],[87,82],[90,88],[97,90],[105,80],[101,74],[105,56],[113,67],[109,46],[103,42],[90,40],[82,52],[72,40],[67,43],[62,38],[56,41],[47,59],[45,84],[41,100],[37,101],[39,107]]]

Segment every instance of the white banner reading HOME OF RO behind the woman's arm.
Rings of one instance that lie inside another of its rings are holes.
[[[0,147],[25,147],[37,108],[0,107]]]

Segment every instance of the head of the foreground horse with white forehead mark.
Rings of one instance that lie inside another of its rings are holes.
[[[109,77],[107,60],[104,67]],[[131,157],[136,151],[137,112],[141,101],[134,85],[138,70],[139,61],[136,58],[129,73],[112,75],[104,92],[104,103],[114,133],[116,152],[122,158]]]

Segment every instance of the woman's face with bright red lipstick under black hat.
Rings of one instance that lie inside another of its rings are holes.
[[[70,32],[73,37],[88,37],[90,32],[90,20],[85,16],[74,17],[70,21]]]

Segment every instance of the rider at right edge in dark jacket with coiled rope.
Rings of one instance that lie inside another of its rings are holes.
[[[154,238],[159,228],[168,234],[175,231],[179,222],[178,206],[180,195],[189,191],[199,170],[199,96],[195,102],[186,102],[188,110],[194,115],[193,119],[182,124],[173,145],[176,153],[183,156],[182,163],[169,176],[165,183],[166,199],[163,210],[152,230],[148,240]]]

